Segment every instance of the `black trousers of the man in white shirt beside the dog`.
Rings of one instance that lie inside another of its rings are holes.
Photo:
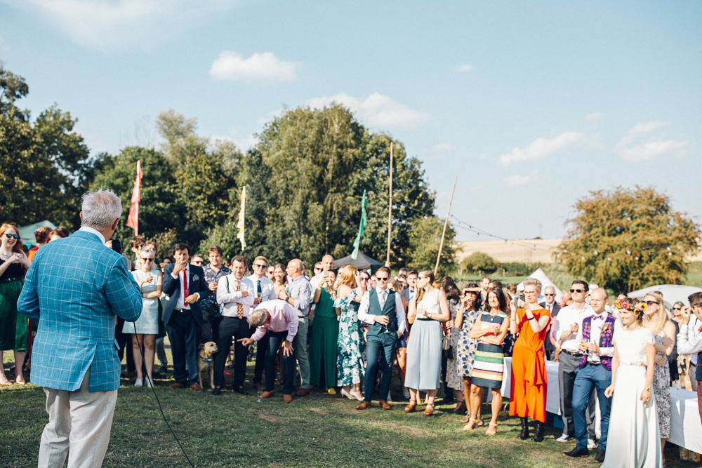
[[[237,317],[223,317],[219,326],[219,340],[217,347],[219,352],[215,354],[215,387],[222,387],[224,384],[224,366],[227,363],[227,349],[232,345],[232,338],[236,340],[234,346],[234,389],[244,385],[246,378],[246,354],[249,353],[244,345],[239,342],[242,338],[249,338],[253,335],[253,328],[249,326],[246,319]]]

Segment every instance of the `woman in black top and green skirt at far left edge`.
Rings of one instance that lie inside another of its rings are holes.
[[[9,223],[0,226],[0,359],[5,349],[15,352],[15,383],[24,385],[22,366],[27,354],[27,317],[17,311],[22,279],[29,259],[22,251],[20,229]],[[0,363],[0,385],[11,385]]]

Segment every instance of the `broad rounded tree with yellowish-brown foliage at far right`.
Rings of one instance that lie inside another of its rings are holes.
[[[613,290],[680,284],[685,258],[696,253],[699,226],[650,187],[599,190],[577,201],[576,218],[559,246],[571,274]]]

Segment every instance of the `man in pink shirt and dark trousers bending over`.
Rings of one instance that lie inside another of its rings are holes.
[[[257,327],[256,333],[250,338],[239,340],[248,347],[251,343],[263,338],[268,333],[268,354],[265,360],[265,392],[261,398],[273,396],[275,383],[275,359],[278,349],[283,347],[283,401],[293,401],[293,377],[295,376],[295,356],[293,354],[293,338],[298,333],[298,312],[288,302],[281,299],[261,302],[249,314],[249,325]]]

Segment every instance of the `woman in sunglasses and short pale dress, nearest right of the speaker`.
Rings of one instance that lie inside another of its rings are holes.
[[[154,372],[154,344],[156,335],[159,333],[159,297],[161,297],[163,276],[158,269],[154,269],[154,253],[149,248],[144,247],[139,250],[137,266],[139,269],[135,269],[132,275],[141,288],[141,316],[135,322],[124,322],[122,333],[132,334],[132,354],[136,366],[134,387],[143,385],[150,387]],[[146,382],[142,370],[140,345],[143,347],[144,366],[149,377]]]

